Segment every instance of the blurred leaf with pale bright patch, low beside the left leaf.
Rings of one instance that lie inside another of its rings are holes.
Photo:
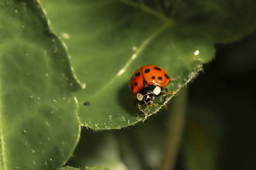
[[[83,129],[74,157],[67,164],[74,167],[104,166],[127,170],[120,157],[119,143],[115,133]]]

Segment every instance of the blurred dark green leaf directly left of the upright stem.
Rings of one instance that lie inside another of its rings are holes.
[[[163,116],[167,114],[163,111],[163,115],[150,117],[143,124],[119,131],[120,153],[128,169],[159,167],[166,134],[166,122],[163,121],[166,117]]]

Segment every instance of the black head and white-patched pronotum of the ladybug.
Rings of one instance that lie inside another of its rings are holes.
[[[136,101],[140,104],[151,105],[154,103],[156,96],[161,92],[161,87],[156,85],[147,85],[141,88],[140,92],[136,95]]]

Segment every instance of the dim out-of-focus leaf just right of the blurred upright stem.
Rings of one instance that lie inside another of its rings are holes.
[[[209,108],[192,110],[188,113],[182,143],[183,165],[186,170],[219,169],[223,125]]]

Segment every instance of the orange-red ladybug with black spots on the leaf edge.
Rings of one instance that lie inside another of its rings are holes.
[[[174,94],[174,92],[168,92],[166,85],[172,80],[175,80],[175,78],[171,79],[164,69],[155,65],[142,66],[132,75],[129,87],[133,97],[136,97],[134,101],[135,106],[145,115],[143,122],[147,118],[147,113],[141,107],[147,104],[148,111],[148,106],[154,104],[157,108],[156,103],[154,103],[156,97],[165,96],[163,104],[167,109],[165,104],[166,93]],[[165,92],[162,92],[163,90]]]

